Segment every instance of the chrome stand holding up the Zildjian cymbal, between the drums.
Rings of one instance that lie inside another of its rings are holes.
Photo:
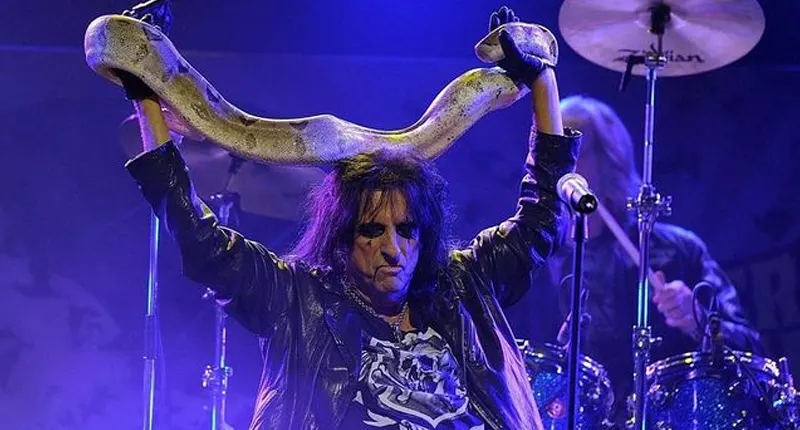
[[[634,411],[633,425],[635,429],[645,429],[646,411],[646,378],[645,372],[650,359],[650,348],[657,340],[653,339],[649,325],[650,285],[647,268],[650,267],[650,233],[659,215],[671,212],[671,197],[662,197],[656,192],[652,183],[653,166],[653,129],[655,115],[655,92],[657,70],[666,66],[663,51],[664,30],[670,20],[670,7],[657,3],[650,8],[650,33],[656,36],[655,49],[644,55],[632,55],[628,58],[627,70],[623,76],[620,89],[624,89],[631,69],[636,64],[647,67],[647,100],[645,104],[644,130],[644,163],[642,166],[642,184],[636,200],[628,199],[628,209],[637,210],[639,227],[639,288],[636,300],[636,325],[633,327],[633,379],[634,379]]]

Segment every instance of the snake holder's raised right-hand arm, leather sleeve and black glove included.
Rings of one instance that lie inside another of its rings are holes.
[[[503,7],[492,14],[490,30],[516,20],[513,12]],[[526,173],[514,216],[479,233],[457,257],[474,263],[489,293],[508,306],[527,291],[531,272],[563,243],[568,213],[558,198],[556,183],[575,169],[580,133],[562,125],[555,71],[538,58],[521,53],[507,33],[500,34],[500,44],[505,58],[498,66],[519,85],[531,88],[533,96]]]

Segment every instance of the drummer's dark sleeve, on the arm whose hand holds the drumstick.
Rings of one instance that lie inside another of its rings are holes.
[[[698,273],[700,278],[689,286],[695,288],[699,283],[707,282],[717,293],[718,311],[722,319],[721,334],[725,344],[737,350],[763,355],[760,335],[745,316],[736,288],[712,258],[706,244],[691,232],[686,232],[683,240],[688,261],[692,264],[691,273]],[[700,297],[709,296],[701,293],[708,292],[698,291]],[[708,306],[708,302],[704,300],[703,306]]]

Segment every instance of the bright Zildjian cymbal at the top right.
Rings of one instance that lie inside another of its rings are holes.
[[[659,76],[687,76],[744,57],[764,34],[764,12],[756,0],[564,0],[559,27],[580,56],[624,72],[627,57],[653,51],[650,7],[663,3],[670,18],[663,36],[666,66]],[[632,74],[646,75],[637,66]]]

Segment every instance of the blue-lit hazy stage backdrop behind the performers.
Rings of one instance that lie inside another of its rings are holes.
[[[118,126],[131,106],[88,69],[82,51],[88,22],[128,5],[38,3],[10,4],[0,31],[0,422],[20,430],[134,429],[149,212],[123,169]],[[262,116],[333,113],[385,129],[411,124],[448,82],[483,66],[472,46],[501,5],[237,3],[174,8],[173,40],[229,101]],[[558,3],[517,3],[508,2],[523,19],[557,29]],[[798,375],[800,51],[789,27],[800,16],[796,2],[762,5],[768,31],[746,58],[659,80],[654,180],[674,197],[668,221],[706,241],[736,281],[769,356],[788,356]],[[587,94],[618,109],[639,159],[644,81],[620,94],[619,74],[560,42],[562,96]],[[485,117],[439,160],[460,238],[514,210],[529,126],[526,98]],[[240,229],[280,252],[297,223],[245,214]],[[214,314],[179,263],[165,240],[159,428],[199,429]],[[235,322],[229,363],[229,418],[242,429],[261,363],[255,339]]]

